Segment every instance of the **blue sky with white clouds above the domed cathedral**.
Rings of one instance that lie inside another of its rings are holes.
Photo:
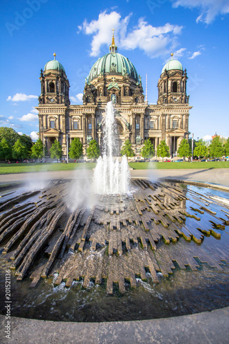
[[[157,81],[171,51],[187,69],[189,131],[194,138],[229,136],[228,0],[1,1],[0,126],[36,138],[40,69],[56,59],[80,104],[85,77],[107,54],[111,28],[118,52],[142,76],[157,103]]]

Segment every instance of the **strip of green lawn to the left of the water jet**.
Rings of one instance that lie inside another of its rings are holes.
[[[74,163],[69,164],[54,163],[54,164],[0,164],[0,174],[7,173],[27,173],[27,172],[39,172],[39,171],[71,171],[74,169],[94,169],[96,164],[94,162],[87,163]]]

